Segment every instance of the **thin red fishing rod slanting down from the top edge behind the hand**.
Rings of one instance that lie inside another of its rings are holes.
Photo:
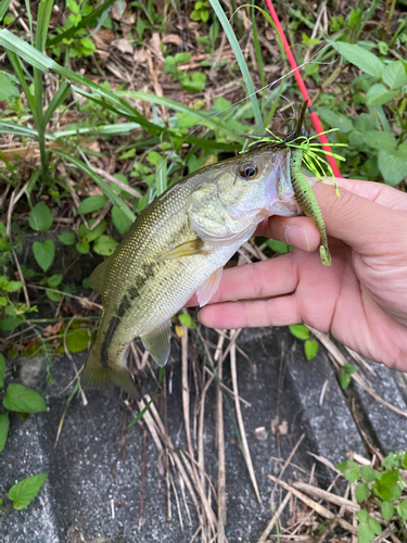
[[[296,83],[298,85],[300,91],[303,94],[304,100],[308,100],[307,103],[308,103],[309,116],[310,116],[310,119],[313,122],[314,128],[317,130],[319,141],[321,143],[328,143],[328,139],[327,139],[326,135],[321,134],[323,131],[322,125],[321,125],[321,123],[319,121],[317,112],[314,111],[313,102],[311,102],[311,100],[309,98],[307,88],[305,87],[304,79],[301,77],[301,73],[300,73],[298,66],[296,65],[296,62],[295,62],[293,53],[291,52],[290,45],[287,41],[284,30],[281,27],[280,20],[278,17],[277,13],[276,13],[275,7],[272,5],[271,0],[266,0],[266,3],[267,3],[268,9],[270,10],[271,18],[272,18],[275,25],[277,26],[277,30],[278,30],[278,33],[280,35],[282,45],[284,47],[284,51],[285,51],[287,56],[288,56],[289,62],[290,62],[290,65],[291,65],[291,67],[294,71],[294,77],[295,77]],[[328,152],[332,152],[331,148],[329,147],[329,144],[328,146],[325,144],[322,149],[326,150],[326,151],[328,151]],[[329,162],[329,164],[330,164],[330,166],[332,168],[332,172],[334,173],[335,177],[342,177],[341,176],[341,172],[339,171],[339,167],[338,167],[335,159],[333,156],[331,156],[330,154],[326,154],[326,156],[327,156],[327,161]]]

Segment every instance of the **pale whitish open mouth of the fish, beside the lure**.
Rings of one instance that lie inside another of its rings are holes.
[[[266,205],[264,215],[293,217],[301,214],[296,202],[290,172],[291,149],[274,153],[274,167],[265,180]]]

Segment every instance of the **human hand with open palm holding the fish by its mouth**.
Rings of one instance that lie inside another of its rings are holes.
[[[305,323],[359,354],[407,371],[407,194],[377,182],[313,186],[329,236],[306,217],[270,217],[257,236],[290,242],[283,256],[224,270],[199,318],[214,328]]]

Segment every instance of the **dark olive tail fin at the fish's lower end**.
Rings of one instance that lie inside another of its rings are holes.
[[[80,378],[85,386],[93,388],[102,387],[106,382],[113,381],[129,394],[137,399],[139,397],[139,393],[130,371],[123,366],[116,366],[113,368],[103,366],[100,362],[99,353],[94,349],[92,349],[89,353]]]

